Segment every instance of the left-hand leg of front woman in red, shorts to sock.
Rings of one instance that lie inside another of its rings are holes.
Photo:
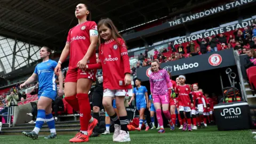
[[[76,97],[77,69],[69,68],[65,79],[65,100],[79,113],[79,105]]]

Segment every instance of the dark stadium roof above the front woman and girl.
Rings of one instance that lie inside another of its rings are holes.
[[[118,30],[124,30],[169,15],[172,9],[179,10],[202,1],[0,0],[0,35],[38,45],[61,47],[66,41],[68,30],[77,24],[74,12],[78,3],[90,7],[93,21],[109,17]]]

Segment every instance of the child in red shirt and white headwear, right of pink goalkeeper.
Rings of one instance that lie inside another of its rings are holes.
[[[191,116],[190,116],[190,111],[191,111],[191,107],[194,107],[193,104],[193,98],[192,98],[192,94],[190,93],[190,87],[185,84],[186,81],[186,77],[180,75],[179,76],[179,82],[180,85],[177,85],[175,92],[178,94],[178,101],[179,101],[179,111],[180,111],[180,117],[182,119],[183,122],[183,131],[186,131],[188,128],[188,131],[192,131],[191,129]],[[187,118],[187,122],[185,121],[185,115],[184,112],[186,114],[186,118]]]

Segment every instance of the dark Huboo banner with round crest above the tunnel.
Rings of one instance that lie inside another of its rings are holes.
[[[235,65],[234,50],[227,49],[161,63],[160,67],[170,71],[172,76],[177,76]],[[149,81],[150,74],[150,66],[137,69],[137,77],[140,78],[142,82]]]

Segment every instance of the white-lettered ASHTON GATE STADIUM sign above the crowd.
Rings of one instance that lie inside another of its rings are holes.
[[[254,20],[256,20],[256,19],[254,19]],[[213,29],[213,30],[210,30],[210,31],[205,31],[204,33],[201,33],[201,34],[196,34],[196,35],[192,35],[192,36],[179,38],[179,39],[173,41],[173,44],[174,45],[182,44],[182,43],[186,43],[186,42],[189,42],[189,41],[195,41],[196,39],[199,39],[199,38],[205,38],[205,37],[209,37],[209,36],[212,36],[212,35],[219,35],[219,34],[226,33],[228,31],[232,31],[232,30],[235,30],[235,29],[252,26],[252,23],[253,23],[254,20],[244,21],[244,22],[241,22],[241,23],[236,23],[234,25],[230,25],[230,26],[226,26],[226,27],[222,27],[222,28],[217,28],[217,29]]]

